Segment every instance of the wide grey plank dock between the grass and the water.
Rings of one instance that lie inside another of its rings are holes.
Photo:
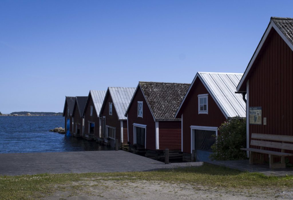
[[[0,153],[0,175],[12,176],[41,173],[149,171],[202,164],[198,162],[165,165],[126,151]]]

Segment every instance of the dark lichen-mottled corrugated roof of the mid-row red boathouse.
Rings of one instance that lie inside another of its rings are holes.
[[[176,119],[174,115],[189,86],[189,83],[139,82],[135,91],[142,90],[155,121],[174,121],[180,120]],[[134,95],[125,116],[127,116],[133,98]]]

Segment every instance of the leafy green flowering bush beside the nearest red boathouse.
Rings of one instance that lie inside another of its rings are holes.
[[[215,136],[216,137],[216,136]],[[233,117],[219,127],[219,135],[212,145],[212,160],[246,159],[246,119]]]

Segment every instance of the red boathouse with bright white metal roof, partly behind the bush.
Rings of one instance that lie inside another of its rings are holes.
[[[207,161],[218,127],[235,116],[245,118],[245,102],[235,88],[243,74],[198,72],[175,117],[182,123],[185,161]]]

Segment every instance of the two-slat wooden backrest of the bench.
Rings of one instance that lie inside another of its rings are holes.
[[[260,139],[260,140],[253,140],[253,139]],[[280,142],[270,142],[270,141],[261,141],[261,140],[272,140],[272,141],[280,141]],[[293,136],[252,133],[250,144],[253,146],[263,146],[263,147],[270,147],[270,148],[293,150],[293,144],[282,143],[282,142],[293,142]]]

